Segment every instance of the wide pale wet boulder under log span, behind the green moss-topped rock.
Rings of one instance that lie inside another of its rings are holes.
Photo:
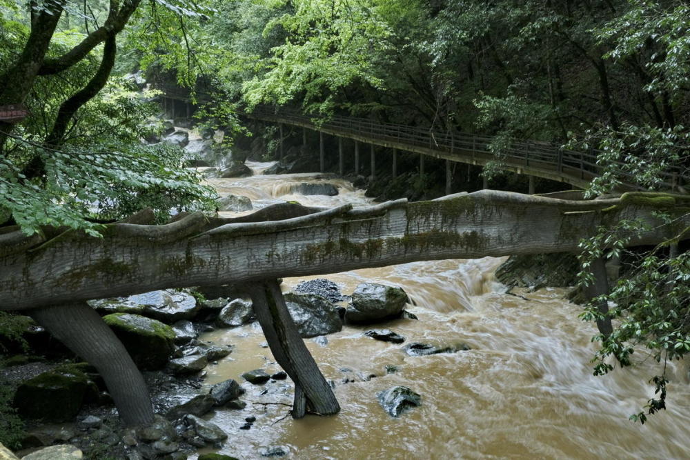
[[[165,323],[191,319],[199,311],[197,300],[187,292],[157,290],[143,294],[89,301],[100,314],[135,313]]]

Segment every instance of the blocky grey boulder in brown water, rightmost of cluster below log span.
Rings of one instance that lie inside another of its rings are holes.
[[[361,283],[352,294],[345,319],[353,323],[369,323],[399,317],[407,301],[407,294],[402,288]]]

